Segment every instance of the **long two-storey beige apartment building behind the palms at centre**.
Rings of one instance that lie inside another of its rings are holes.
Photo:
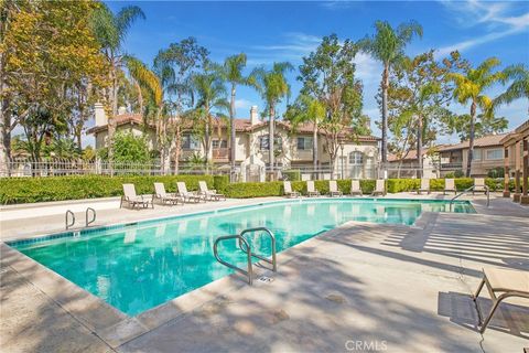
[[[117,131],[130,131],[138,136],[147,136],[150,148],[156,149],[154,127],[145,127],[141,115],[126,113],[121,108],[115,120]],[[219,121],[216,124],[220,126],[215,126],[212,133],[213,146],[208,157],[217,167],[227,167],[229,163],[228,130],[224,122]],[[235,159],[237,168],[239,170],[263,170],[269,167],[269,122],[259,118],[256,106],[251,107],[249,118],[235,119]],[[95,126],[87,132],[95,136],[96,149],[107,145],[108,120],[101,105],[96,105]],[[319,168],[328,171],[333,169],[336,175],[341,175],[343,171],[343,178],[375,178],[378,164],[379,138],[374,136],[356,136],[353,138],[353,132],[352,130],[344,131],[335,165],[331,165],[324,132],[321,131],[319,133]],[[313,127],[311,124],[304,124],[294,130],[285,121],[280,120],[276,122],[274,149],[278,154],[276,157],[278,167],[282,169],[301,169],[302,171],[312,169],[312,146]],[[183,133],[180,162],[185,163],[194,153],[204,157],[204,146],[201,139],[194,136],[191,130],[185,131]],[[309,176],[305,175],[304,178]]]

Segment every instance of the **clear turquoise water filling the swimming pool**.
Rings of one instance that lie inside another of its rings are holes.
[[[473,213],[467,202],[453,212]],[[443,201],[316,199],[139,222],[10,245],[122,312],[134,315],[233,271],[218,264],[213,243],[220,235],[264,226],[278,253],[347,221],[411,225],[423,211],[450,211]],[[249,236],[269,255],[269,239]],[[223,258],[244,266],[235,240],[222,243]]]

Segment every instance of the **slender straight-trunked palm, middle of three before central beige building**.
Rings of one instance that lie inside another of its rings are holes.
[[[235,170],[235,98],[237,85],[251,85],[251,77],[242,75],[246,67],[246,54],[240,53],[226,57],[224,65],[219,67],[219,74],[230,85],[231,100],[229,109],[229,161],[231,172]]]

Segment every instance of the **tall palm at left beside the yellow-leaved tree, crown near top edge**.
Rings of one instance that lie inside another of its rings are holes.
[[[115,116],[118,115],[118,73],[122,67],[122,45],[127,36],[127,32],[131,24],[138,19],[145,19],[143,11],[136,6],[122,8],[118,13],[112,11],[105,4],[100,3],[99,8],[94,11],[91,18],[91,28],[94,34],[101,45],[101,51],[107,58],[109,65],[110,88],[107,92],[107,115],[108,106],[111,108],[111,115],[108,118],[108,158],[114,158],[114,135],[116,132]]]

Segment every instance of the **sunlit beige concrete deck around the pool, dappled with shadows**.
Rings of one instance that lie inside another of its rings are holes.
[[[262,200],[98,216],[117,223]],[[347,223],[281,253],[278,274],[266,272],[272,282],[229,276],[134,318],[2,244],[0,350],[518,352],[529,346],[529,303],[504,304],[482,335],[469,293],[484,266],[529,270],[529,208],[475,200],[478,214],[429,213],[412,227]],[[64,228],[62,216],[18,222],[26,235]],[[0,226],[2,239],[21,236],[15,223]]]

